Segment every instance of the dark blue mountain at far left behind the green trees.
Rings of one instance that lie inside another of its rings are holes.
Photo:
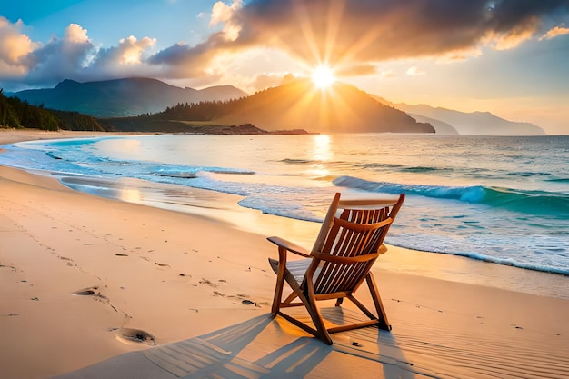
[[[247,95],[232,85],[202,90],[181,88],[149,78],[126,78],[79,83],[66,79],[54,88],[31,89],[16,96],[30,105],[75,111],[95,117],[122,117],[163,111],[178,103],[225,101]]]

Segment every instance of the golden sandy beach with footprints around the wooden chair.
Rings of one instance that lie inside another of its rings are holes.
[[[0,130],[0,145],[86,135],[97,134]],[[327,346],[272,319],[266,237],[305,244],[319,225],[237,200],[215,194],[216,209],[180,213],[0,166],[0,377],[569,377],[569,299],[513,291],[507,277],[535,275],[513,267],[390,246],[374,275],[391,333],[334,334]],[[237,227],[249,219],[262,227]],[[450,266],[493,274],[473,284],[440,274]],[[355,316],[345,305],[323,313]]]

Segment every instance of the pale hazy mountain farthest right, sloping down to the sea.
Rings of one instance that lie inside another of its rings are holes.
[[[459,135],[545,135],[544,129],[537,125],[508,121],[489,112],[464,113],[430,105],[404,103],[394,106],[414,115],[418,121],[430,122],[438,134],[454,135],[457,132]]]

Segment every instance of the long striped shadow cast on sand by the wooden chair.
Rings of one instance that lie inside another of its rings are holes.
[[[322,313],[334,324],[356,314],[343,307],[323,308]],[[360,365],[367,374],[385,378],[423,376],[404,359],[394,335],[376,327],[333,334],[333,339],[333,345],[324,344],[280,317],[263,314],[185,341],[118,355],[57,379],[304,378],[311,373],[336,377],[334,367],[351,370]]]

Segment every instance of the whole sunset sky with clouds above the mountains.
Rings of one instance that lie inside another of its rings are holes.
[[[325,65],[397,103],[569,135],[569,0],[18,0],[0,88],[152,77],[253,94]]]

